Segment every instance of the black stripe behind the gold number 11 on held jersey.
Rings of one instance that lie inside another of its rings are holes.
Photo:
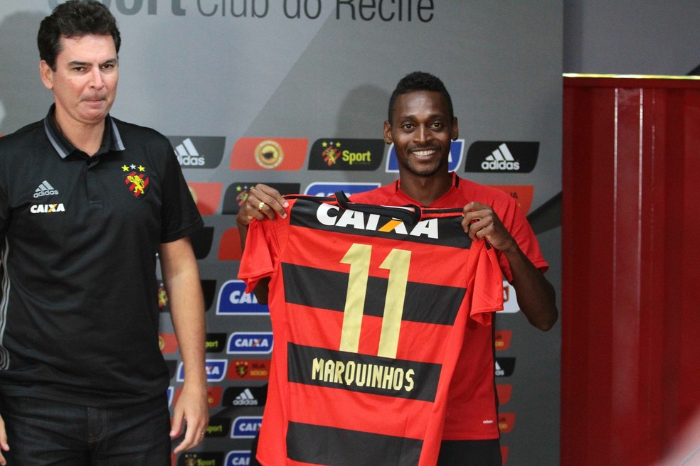
[[[287,303],[318,309],[345,310],[349,274],[282,263]],[[387,278],[368,277],[364,315],[383,317]],[[452,325],[466,288],[409,281],[402,320]]]

